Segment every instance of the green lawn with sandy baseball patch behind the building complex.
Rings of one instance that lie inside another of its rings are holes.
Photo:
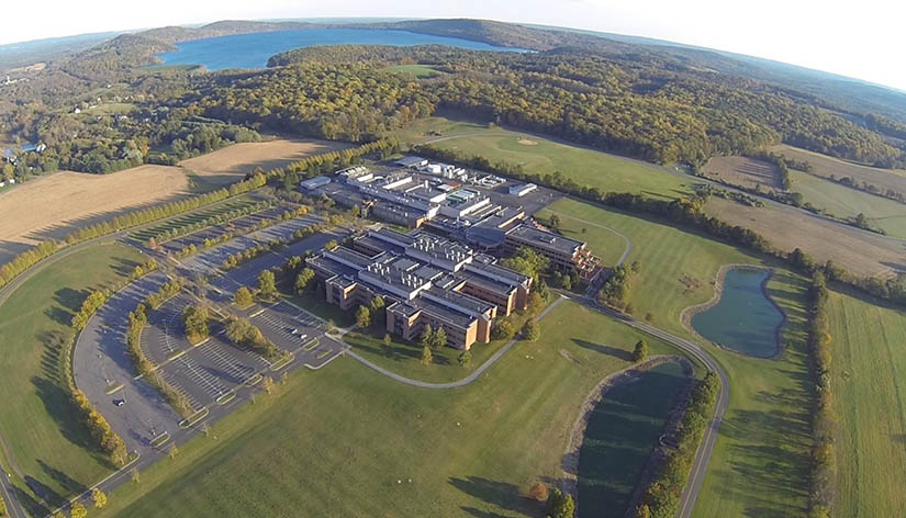
[[[655,166],[601,151],[559,144],[536,135],[512,132],[486,124],[428,117],[399,132],[401,142],[418,143],[463,134],[432,144],[440,149],[456,149],[481,155],[490,160],[521,164],[526,172],[560,171],[580,184],[605,191],[638,192],[678,198],[689,194],[690,180],[670,174]]]

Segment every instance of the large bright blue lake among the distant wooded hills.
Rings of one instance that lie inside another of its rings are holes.
[[[270,56],[284,50],[313,45],[449,45],[477,50],[513,50],[456,37],[432,36],[405,31],[367,29],[302,29],[233,36],[210,37],[180,43],[179,49],[158,54],[165,65],[204,65],[209,70],[228,68],[264,68]]]

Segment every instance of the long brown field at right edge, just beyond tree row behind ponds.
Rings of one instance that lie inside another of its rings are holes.
[[[835,263],[859,275],[890,277],[906,271],[906,245],[778,206],[749,207],[712,198],[707,212],[727,223],[751,228],[775,247],[802,248],[817,260]]]

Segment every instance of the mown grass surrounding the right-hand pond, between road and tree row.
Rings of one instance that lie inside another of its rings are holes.
[[[652,323],[670,333],[694,337],[680,322],[684,307],[709,300],[722,264],[772,266],[737,248],[667,223],[605,211],[571,200],[550,210],[623,232],[633,240],[628,261],[640,273],[631,281],[635,314],[651,313]],[[547,217],[550,211],[543,211]],[[594,246],[592,246],[594,250]],[[773,264],[778,266],[778,264]],[[695,516],[804,516],[808,493],[809,379],[805,353],[805,282],[778,269],[769,294],[786,312],[785,351],[775,360],[736,354],[713,346],[724,365],[730,402],[695,508]]]

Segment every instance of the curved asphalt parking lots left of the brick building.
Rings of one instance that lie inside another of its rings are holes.
[[[278,267],[291,256],[304,256],[306,250],[320,249],[328,240],[339,239],[343,235],[314,234],[280,250],[268,251],[221,275],[219,267],[226,256],[249,245],[290,239],[297,229],[318,222],[316,217],[303,216],[237,237],[178,263],[176,272],[189,278],[215,275],[210,278],[211,299],[228,304],[235,290],[239,285],[254,283],[260,271]],[[158,311],[150,313],[142,347],[149,358],[160,360],[158,373],[186,395],[193,408],[204,407],[208,410],[203,419],[189,428],[181,428],[181,417],[154,387],[136,378],[124,346],[128,313],[165,281],[164,272],[155,272],[114,294],[89,320],[75,348],[72,370],[77,386],[123,438],[127,449],[138,453],[137,460],[98,484],[104,492],[130,481],[133,469],[144,470],[165,457],[170,442],[180,444],[199,433],[204,423],[214,423],[226,416],[259,390],[248,386],[247,382],[258,373],[270,372],[270,364],[265,359],[227,344],[222,336],[222,327],[217,325],[212,326],[208,340],[189,345],[181,329],[181,312],[192,299],[183,292],[167,301]],[[232,305],[225,307],[232,308]],[[295,352],[295,358],[282,367],[281,372],[303,367],[322,368],[347,348],[342,341],[324,335],[324,323],[317,317],[289,302],[254,306],[247,313],[246,316],[255,319],[261,326],[262,334],[278,347]],[[300,335],[305,335],[305,339]],[[233,397],[224,397],[228,394]],[[121,399],[124,403],[118,406],[116,402]],[[163,447],[154,446],[154,439],[165,432],[169,441]],[[18,502],[11,499],[10,505],[16,506]]]

